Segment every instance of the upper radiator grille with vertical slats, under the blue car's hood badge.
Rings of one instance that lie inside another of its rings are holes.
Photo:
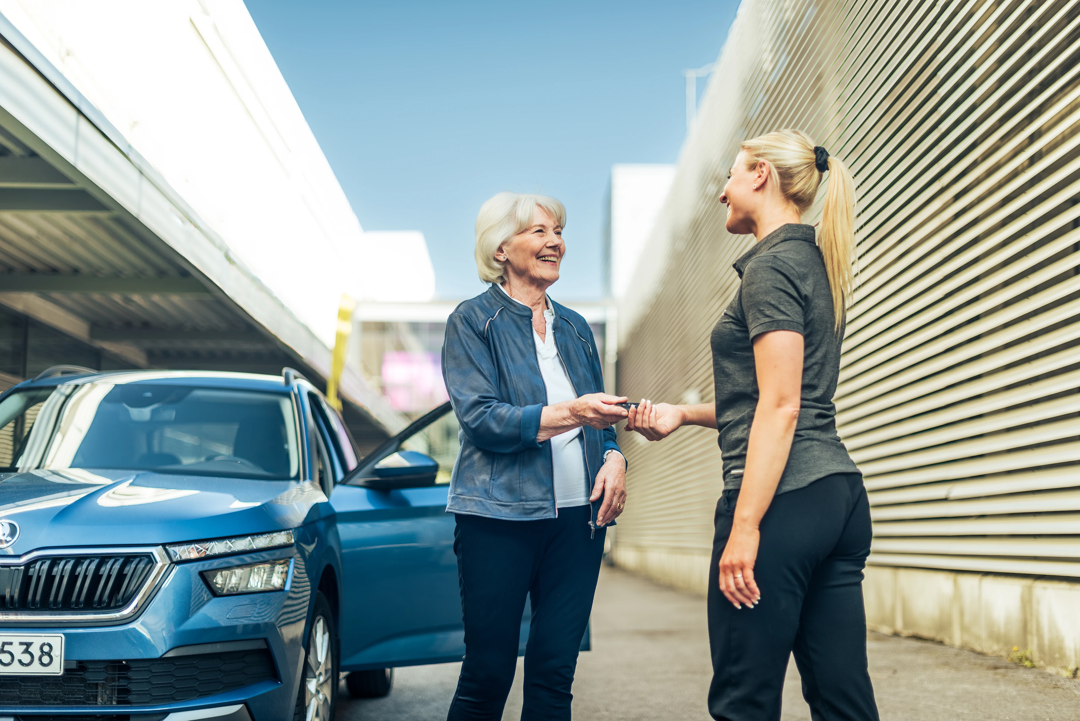
[[[123,609],[154,570],[151,553],[46,556],[0,565],[0,609],[92,613]]]

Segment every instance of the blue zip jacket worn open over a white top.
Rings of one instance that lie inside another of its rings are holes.
[[[551,301],[558,356],[578,396],[602,392],[600,359],[589,323]],[[548,392],[532,339],[532,311],[491,286],[465,301],[446,321],[443,377],[461,426],[461,450],[446,509],[528,521],[555,518],[551,441],[537,442]],[[592,489],[615,429],[584,426],[586,479]],[[592,504],[595,529],[599,502]]]

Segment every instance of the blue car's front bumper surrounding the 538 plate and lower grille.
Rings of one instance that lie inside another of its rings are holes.
[[[215,597],[200,576],[275,559],[292,559],[281,591]],[[65,672],[0,676],[0,721],[65,716],[291,721],[310,601],[303,557],[287,547],[173,564],[141,613],[122,625],[2,628],[63,633]]]

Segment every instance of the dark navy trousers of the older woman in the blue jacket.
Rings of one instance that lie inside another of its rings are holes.
[[[569,719],[570,686],[593,609],[605,530],[590,537],[589,506],[561,508],[558,518],[540,521],[456,518],[465,657],[448,721],[502,719],[517,667],[526,595],[532,622],[522,719]]]

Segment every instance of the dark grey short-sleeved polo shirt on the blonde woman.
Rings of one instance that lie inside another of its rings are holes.
[[[833,395],[843,331],[834,331],[833,295],[813,227],[781,226],[754,243],[735,261],[734,269],[742,284],[712,336],[724,488],[742,484],[758,399],[751,344],[769,331],[795,331],[804,338],[801,409],[777,493],[801,489],[832,473],[858,473],[836,435]]]

